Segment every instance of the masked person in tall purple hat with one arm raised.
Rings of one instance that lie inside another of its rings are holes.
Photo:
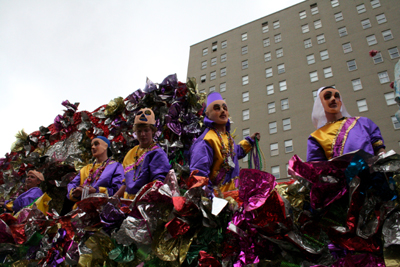
[[[222,192],[235,190],[238,160],[250,152],[260,134],[254,133],[236,145],[230,134],[228,106],[218,92],[207,96],[204,124],[207,129],[190,149],[190,171],[198,170],[197,175],[208,177],[210,186],[218,186]]]

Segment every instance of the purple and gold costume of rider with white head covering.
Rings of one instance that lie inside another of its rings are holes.
[[[379,127],[365,117],[348,117],[326,124],[308,137],[307,161],[326,161],[363,149],[375,154],[385,148]]]

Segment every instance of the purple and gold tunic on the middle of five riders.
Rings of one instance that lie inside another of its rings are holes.
[[[144,153],[146,154],[143,160],[137,164],[137,159]],[[125,198],[131,198],[130,195],[136,194],[140,188],[154,180],[163,182],[171,169],[167,154],[158,146],[149,151],[140,149],[138,145],[135,146],[126,154],[123,166],[126,184]]]

